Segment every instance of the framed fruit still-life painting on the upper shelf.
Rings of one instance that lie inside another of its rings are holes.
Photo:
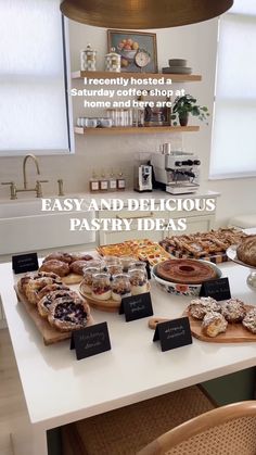
[[[120,54],[121,72],[157,73],[156,34],[107,30],[107,46],[108,51],[115,48],[115,51]],[[136,59],[139,50],[142,51],[140,60],[138,55]]]

